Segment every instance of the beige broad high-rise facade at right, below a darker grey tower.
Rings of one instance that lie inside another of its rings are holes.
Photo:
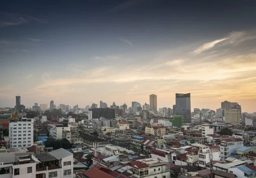
[[[225,123],[240,124],[240,110],[239,109],[224,109]]]

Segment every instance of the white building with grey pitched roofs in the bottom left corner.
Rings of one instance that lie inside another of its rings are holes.
[[[6,170],[0,178],[73,178],[73,154],[63,148],[35,156],[28,152],[0,153],[0,158],[0,170]]]

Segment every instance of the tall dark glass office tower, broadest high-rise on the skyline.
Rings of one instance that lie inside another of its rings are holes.
[[[176,115],[182,115],[184,123],[191,123],[190,93],[176,93]]]

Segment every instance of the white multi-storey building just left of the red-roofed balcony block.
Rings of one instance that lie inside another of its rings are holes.
[[[199,167],[206,167],[206,164],[213,161],[220,161],[221,154],[219,146],[202,146],[199,149]]]

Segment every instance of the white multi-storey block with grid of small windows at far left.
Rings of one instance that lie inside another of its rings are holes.
[[[24,114],[20,117],[19,120],[11,120],[9,123],[10,148],[33,145],[34,118],[26,118]]]

